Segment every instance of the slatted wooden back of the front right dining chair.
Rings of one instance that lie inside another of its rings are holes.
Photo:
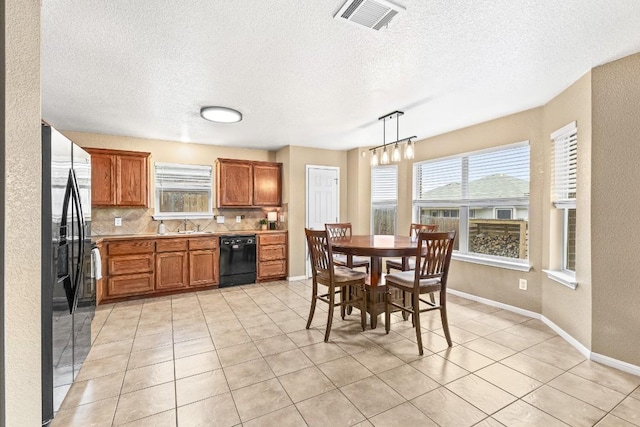
[[[440,278],[442,289],[444,290],[447,283],[455,238],[455,231],[445,233],[418,233],[415,286],[419,286],[421,279]]]

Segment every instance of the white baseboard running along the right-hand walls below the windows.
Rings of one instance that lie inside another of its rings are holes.
[[[569,335],[558,325],[553,323],[551,320],[547,319],[545,316],[529,311],[524,310],[522,308],[514,307],[509,304],[504,304],[498,301],[493,301],[487,298],[482,298],[476,295],[468,294],[466,292],[456,291],[455,289],[447,288],[447,292],[451,295],[456,295],[461,298],[469,299],[472,301],[481,302],[483,304],[490,305],[492,307],[498,307],[503,310],[512,311],[517,314],[521,314],[523,316],[531,317],[533,319],[541,320],[545,325],[549,326],[555,333],[557,333],[562,339],[571,344],[580,354],[582,354],[585,358],[593,360],[594,362],[601,363],[603,365],[609,366],[611,368],[619,369],[624,372],[628,372],[633,375],[640,376],[640,366],[633,365],[631,363],[623,362],[622,360],[614,359],[613,357],[605,356],[603,354],[594,353],[589,350],[587,347],[582,345],[580,341]]]

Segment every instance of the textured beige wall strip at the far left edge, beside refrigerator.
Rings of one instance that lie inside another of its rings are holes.
[[[39,426],[40,2],[4,2],[4,376],[7,426]],[[2,424],[2,420],[0,420]],[[4,425],[4,424],[3,424]]]

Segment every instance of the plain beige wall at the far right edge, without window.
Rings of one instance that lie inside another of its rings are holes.
[[[593,346],[640,366],[640,54],[594,68]]]

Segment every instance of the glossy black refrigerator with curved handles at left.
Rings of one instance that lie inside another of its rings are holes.
[[[42,425],[91,348],[91,157],[42,125]]]

